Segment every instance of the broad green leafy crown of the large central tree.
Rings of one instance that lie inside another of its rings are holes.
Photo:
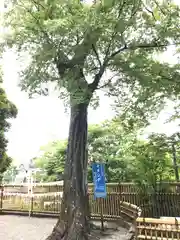
[[[54,82],[61,98],[69,94],[83,102],[92,90],[103,88],[107,95],[118,96],[126,117],[136,113],[147,120],[166,98],[180,92],[179,64],[156,59],[168,46],[179,45],[179,6],[154,0],[83,2],[7,4],[5,26],[10,31],[5,46],[30,57],[21,73],[22,89],[30,95],[48,94],[47,82]]]

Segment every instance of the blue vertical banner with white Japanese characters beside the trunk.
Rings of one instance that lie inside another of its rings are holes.
[[[93,181],[95,198],[106,197],[105,168],[103,163],[93,163]]]

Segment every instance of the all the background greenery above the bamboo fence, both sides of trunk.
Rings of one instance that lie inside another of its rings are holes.
[[[101,161],[106,165],[107,182],[136,182],[151,186],[161,181],[176,180],[173,166],[171,138],[163,134],[152,134],[146,140],[137,138],[138,131],[127,132],[119,120],[90,125],[88,134],[89,165],[88,181],[92,182],[91,163]],[[36,167],[44,174],[37,175],[39,181],[63,179],[67,141],[53,142],[42,148]],[[176,141],[177,164],[180,164],[179,142]]]

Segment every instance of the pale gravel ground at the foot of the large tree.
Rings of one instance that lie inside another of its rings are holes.
[[[20,216],[0,216],[0,240],[45,240],[52,231],[56,219],[29,218]],[[101,236],[102,240],[123,240],[126,234],[124,228],[107,230]]]

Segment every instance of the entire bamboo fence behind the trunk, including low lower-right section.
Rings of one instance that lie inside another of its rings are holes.
[[[91,216],[100,219],[103,214],[104,220],[126,218],[136,222],[136,239],[139,240],[180,240],[180,221],[159,218],[180,216],[180,184],[164,185],[166,191],[143,195],[135,184],[107,184],[107,197],[95,200],[93,185],[89,184]],[[0,211],[57,216],[61,211],[62,190],[60,183],[36,184],[33,194],[28,195],[27,185],[4,185],[1,187]]]

